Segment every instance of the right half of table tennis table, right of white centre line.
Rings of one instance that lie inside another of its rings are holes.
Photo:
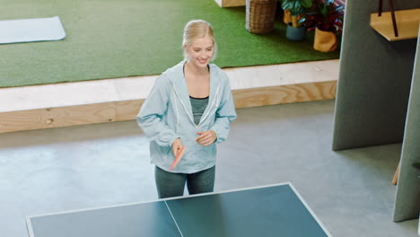
[[[167,203],[183,236],[328,236],[288,185]]]

